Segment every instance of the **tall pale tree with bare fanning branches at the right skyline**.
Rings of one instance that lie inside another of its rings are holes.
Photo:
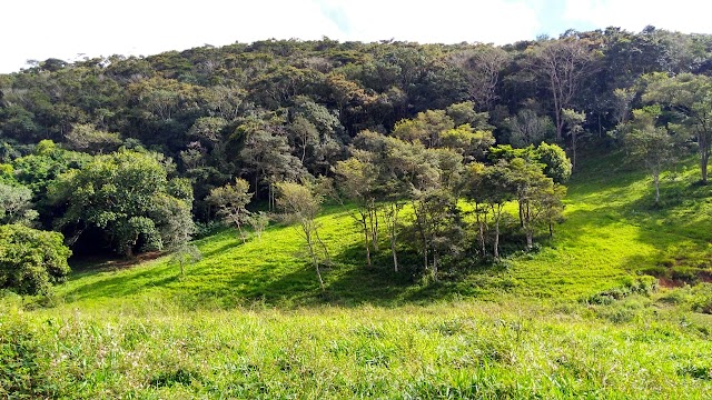
[[[564,38],[538,42],[531,49],[528,61],[530,68],[546,79],[554,104],[556,140],[562,140],[563,111],[571,108],[581,83],[593,72],[594,53],[586,41]]]

